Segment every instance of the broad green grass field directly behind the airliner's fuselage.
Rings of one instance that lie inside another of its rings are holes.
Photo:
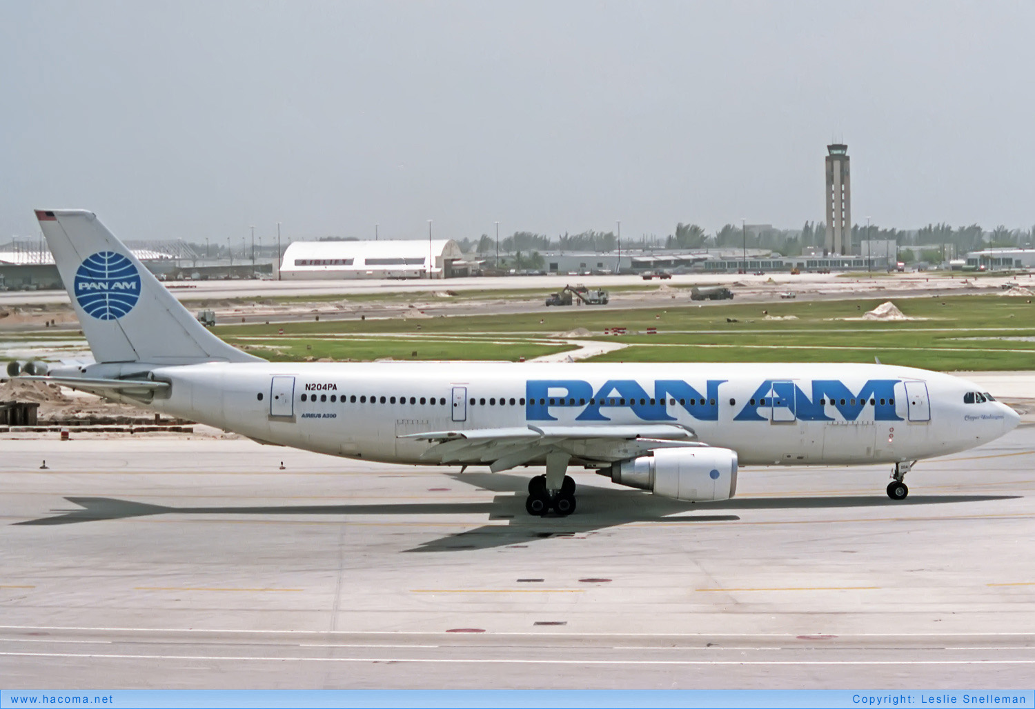
[[[881,322],[858,318],[884,301],[822,300],[775,303],[689,304],[657,308],[566,307],[545,314],[470,316],[404,320],[305,322],[284,324],[285,337],[342,336],[350,333],[409,338],[423,354],[421,337],[459,336],[461,356],[487,345],[479,335],[535,338],[585,327],[594,337],[630,347],[596,361],[853,361],[882,362],[934,370],[1035,368],[1035,342],[962,339],[968,336],[1035,336],[1035,304],[1028,298],[999,295],[900,298],[895,304],[922,321]],[[796,320],[766,320],[795,316]],[[541,321],[541,322],[540,322]],[[735,321],[735,322],[730,322]],[[419,329],[418,329],[419,325]],[[625,327],[629,334],[607,336],[602,330]],[[282,325],[227,327],[224,334],[275,342]],[[644,331],[656,327],[658,334]],[[223,328],[220,328],[223,329]],[[273,335],[271,337],[271,335]],[[405,351],[410,345],[404,346]],[[529,355],[525,355],[529,356]]]

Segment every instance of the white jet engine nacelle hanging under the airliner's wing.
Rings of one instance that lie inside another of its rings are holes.
[[[688,502],[728,500],[737,492],[737,453],[729,448],[658,448],[611,466],[619,484]]]

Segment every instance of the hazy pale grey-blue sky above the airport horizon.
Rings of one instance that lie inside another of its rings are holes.
[[[1035,4],[0,0],[0,239],[1035,223]]]

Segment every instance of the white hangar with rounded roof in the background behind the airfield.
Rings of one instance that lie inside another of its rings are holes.
[[[432,241],[295,241],[284,252],[280,278],[426,278],[467,275],[464,254],[452,239]]]

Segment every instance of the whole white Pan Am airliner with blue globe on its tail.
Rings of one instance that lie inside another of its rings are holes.
[[[964,379],[885,364],[272,363],[205,329],[83,210],[38,210],[95,362],[56,382],[260,443],[386,463],[545,466],[531,514],[570,514],[569,466],[688,501],[740,465],[893,466],[995,440],[1009,407]]]

